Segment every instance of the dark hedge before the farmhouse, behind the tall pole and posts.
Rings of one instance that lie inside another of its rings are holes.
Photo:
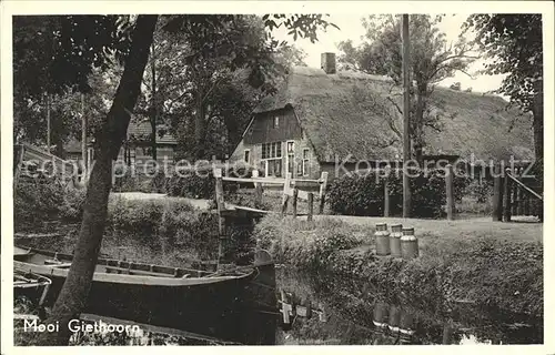
[[[383,215],[384,183],[390,187],[390,207],[393,215],[403,211],[403,178],[391,174],[376,176],[367,174],[344,175],[334,180],[327,192],[327,203],[333,213],[346,215]],[[442,217],[445,215],[445,176],[440,171],[411,178],[412,215],[415,217]],[[454,197],[461,200],[468,179],[454,179]]]

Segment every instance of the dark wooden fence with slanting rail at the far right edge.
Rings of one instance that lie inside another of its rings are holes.
[[[543,195],[533,189],[536,180],[522,176],[523,169],[496,168],[493,193],[493,220],[511,222],[513,216],[538,216],[543,221]]]

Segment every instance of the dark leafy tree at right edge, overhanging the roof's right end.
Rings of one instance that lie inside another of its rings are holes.
[[[463,30],[474,30],[476,44],[490,60],[483,73],[507,74],[497,93],[511,98],[511,104],[532,112],[534,151],[543,181],[543,42],[542,14],[472,14]]]

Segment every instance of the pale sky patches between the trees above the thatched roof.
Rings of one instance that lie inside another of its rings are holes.
[[[323,52],[339,53],[337,43],[341,41],[351,39],[355,45],[361,43],[361,37],[365,33],[361,21],[362,17],[364,17],[363,13],[332,13],[327,20],[336,24],[340,30],[329,27],[325,32],[319,33],[319,42],[316,43],[311,43],[310,40],[297,39],[294,44],[306,52],[306,64],[320,68],[320,54]],[[447,42],[456,41],[461,33],[461,26],[466,20],[466,17],[467,14],[447,14],[444,17],[438,28],[446,34]],[[280,40],[283,39],[287,40],[287,42],[293,42],[292,37],[287,37],[285,32],[278,32],[275,37]],[[468,40],[472,39],[468,37]],[[487,92],[497,89],[504,75],[475,75],[475,72],[483,68],[483,64],[484,61],[478,59],[468,68],[467,73],[473,74],[474,78],[457,72],[453,78],[446,78],[440,82],[440,85],[448,87],[453,82],[461,82],[462,90],[471,87],[473,92]]]

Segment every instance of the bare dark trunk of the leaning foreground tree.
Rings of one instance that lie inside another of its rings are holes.
[[[87,305],[108,214],[108,195],[112,182],[112,161],[125,139],[130,113],[141,90],[142,75],[158,16],[141,14],[132,34],[131,51],[125,61],[118,91],[99,134],[97,162],[92,169],[84,202],[83,220],[68,278],[56,301],[47,324],[59,324],[58,333],[42,333],[38,345],[67,345],[71,333],[68,322],[80,316]]]

